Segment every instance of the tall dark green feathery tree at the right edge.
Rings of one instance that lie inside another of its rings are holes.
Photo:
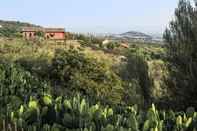
[[[183,106],[194,106],[197,100],[196,9],[188,0],[180,0],[175,10],[175,18],[163,36],[171,62],[171,77],[168,84],[171,86],[172,94],[179,97],[177,104]]]

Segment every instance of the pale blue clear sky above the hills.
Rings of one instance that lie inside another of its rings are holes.
[[[1,0],[0,19],[83,33],[162,33],[178,0]]]

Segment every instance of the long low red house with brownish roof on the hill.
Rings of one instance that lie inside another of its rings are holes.
[[[65,39],[64,28],[24,27],[22,29],[22,35],[26,39],[35,39],[36,32],[43,32],[44,37],[50,40],[64,40]]]

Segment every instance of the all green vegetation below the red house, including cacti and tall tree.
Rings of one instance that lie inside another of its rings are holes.
[[[128,49],[69,33],[61,44],[27,41],[16,36],[21,24],[8,22],[0,29],[0,129],[196,131],[196,13],[180,0],[165,45]]]

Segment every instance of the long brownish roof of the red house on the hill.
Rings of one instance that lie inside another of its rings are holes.
[[[64,28],[41,28],[41,27],[23,27],[22,32],[65,32]]]

